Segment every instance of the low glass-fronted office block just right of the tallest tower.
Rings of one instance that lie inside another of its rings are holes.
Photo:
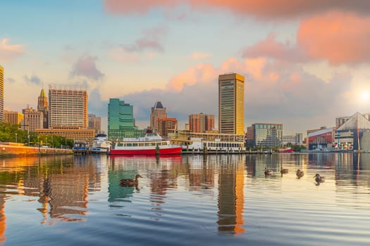
[[[247,146],[273,147],[283,144],[283,124],[255,123],[247,128]]]

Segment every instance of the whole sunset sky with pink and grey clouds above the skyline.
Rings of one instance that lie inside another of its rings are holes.
[[[190,114],[218,122],[218,75],[237,72],[245,129],[305,135],[370,112],[367,0],[4,0],[0,16],[5,110],[78,84],[105,131],[109,98],[140,128],[161,101],[184,129]]]

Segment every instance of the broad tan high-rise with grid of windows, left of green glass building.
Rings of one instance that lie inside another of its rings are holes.
[[[87,91],[74,85],[49,86],[49,128],[87,129]]]

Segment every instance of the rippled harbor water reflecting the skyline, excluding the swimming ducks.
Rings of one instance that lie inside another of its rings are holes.
[[[370,245],[369,187],[368,153],[3,158],[0,245]]]

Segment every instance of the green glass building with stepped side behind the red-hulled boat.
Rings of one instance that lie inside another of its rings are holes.
[[[134,108],[130,103],[110,98],[108,104],[108,138],[137,138],[146,130],[137,129],[134,119]]]

